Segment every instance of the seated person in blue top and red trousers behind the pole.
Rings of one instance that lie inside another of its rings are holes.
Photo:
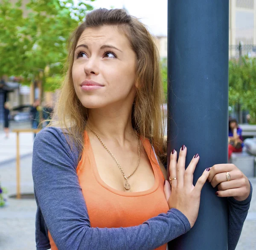
[[[228,122],[228,160],[233,152],[241,152],[244,146],[242,129],[238,127],[236,119]]]

